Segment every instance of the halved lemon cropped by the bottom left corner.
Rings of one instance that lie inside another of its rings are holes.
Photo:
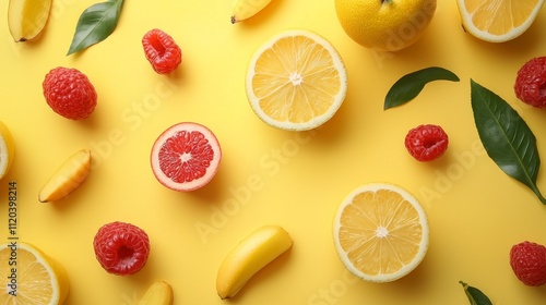
[[[0,304],[54,305],[67,297],[69,280],[64,268],[36,246],[22,242],[1,244],[0,261]]]

